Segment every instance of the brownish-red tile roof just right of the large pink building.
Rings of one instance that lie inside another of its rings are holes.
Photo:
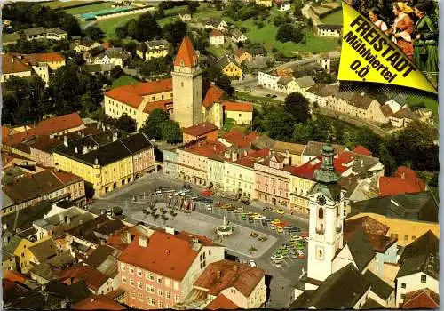
[[[223,259],[208,265],[194,282],[194,287],[208,290],[212,296],[218,296],[221,291],[234,287],[245,297],[250,297],[264,275],[266,271],[258,267]]]

